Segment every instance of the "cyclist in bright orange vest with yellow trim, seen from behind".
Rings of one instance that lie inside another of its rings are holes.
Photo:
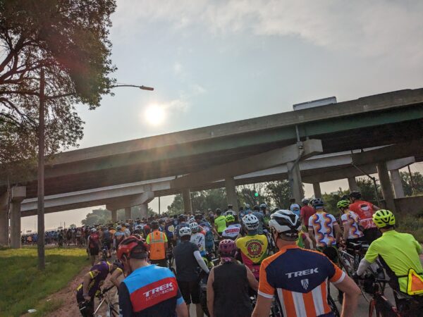
[[[152,230],[153,232],[150,232],[145,240],[149,248],[150,263],[167,268],[168,240],[166,234],[159,231],[159,223],[155,220],[152,221]]]

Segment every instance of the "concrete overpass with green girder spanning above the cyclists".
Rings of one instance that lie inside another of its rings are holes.
[[[64,152],[47,163],[45,194],[60,195],[183,175],[171,179],[171,188],[161,193],[176,189],[183,192],[189,209],[190,189],[225,180],[228,198],[233,201],[236,199],[236,177],[283,165],[293,194],[300,199],[302,177],[304,181],[317,184],[325,181],[321,178],[328,174],[335,177],[336,170],[351,168],[351,165],[338,166],[331,172],[325,170],[320,176],[319,173],[302,175],[302,161],[317,154],[391,146],[353,154],[352,159],[360,162],[355,165],[376,166],[386,204],[394,209],[386,161],[407,156],[415,156],[416,161],[421,161],[422,126],[423,89],[388,92],[338,104]],[[360,159],[362,157],[364,159]],[[349,170],[348,175],[355,177],[353,170]],[[25,186],[26,192],[16,189],[15,196],[11,193],[12,223],[17,223],[20,217],[20,201],[37,195],[36,180],[17,185]],[[1,192],[6,192],[6,178],[0,172]],[[160,190],[156,192],[159,194]],[[149,195],[145,195],[146,201],[151,198]],[[16,213],[18,216],[13,218]],[[7,223],[5,214],[7,216],[5,204],[0,203],[0,226],[3,228]],[[13,224],[11,227],[12,235],[15,232],[18,237],[18,228]]]

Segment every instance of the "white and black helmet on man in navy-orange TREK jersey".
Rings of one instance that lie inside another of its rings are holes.
[[[280,209],[271,214],[269,227],[283,235],[283,240],[294,241],[298,239],[301,221],[292,211]]]

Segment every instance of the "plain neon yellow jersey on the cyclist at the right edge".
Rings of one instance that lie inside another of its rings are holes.
[[[370,244],[364,259],[374,263],[378,256],[386,262],[398,278],[401,292],[407,292],[407,275],[410,268],[419,274],[423,273],[422,263],[419,254],[422,253],[422,246],[415,240],[415,237],[408,233],[390,230],[384,232],[379,239]]]

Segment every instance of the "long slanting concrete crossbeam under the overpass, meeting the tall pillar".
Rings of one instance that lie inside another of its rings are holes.
[[[303,142],[304,153],[302,159],[321,153],[323,148],[321,141],[318,139],[309,139]],[[207,170],[201,170],[197,173],[191,173],[181,178],[176,178],[171,181],[172,188],[190,188],[215,180],[222,180],[224,178],[233,177],[235,175],[243,175],[252,173],[256,170],[264,170],[274,166],[295,161],[298,159],[299,149],[297,144],[283,147],[282,149],[275,149],[267,151],[262,154],[249,156],[244,159],[233,161],[230,163],[213,166]]]

